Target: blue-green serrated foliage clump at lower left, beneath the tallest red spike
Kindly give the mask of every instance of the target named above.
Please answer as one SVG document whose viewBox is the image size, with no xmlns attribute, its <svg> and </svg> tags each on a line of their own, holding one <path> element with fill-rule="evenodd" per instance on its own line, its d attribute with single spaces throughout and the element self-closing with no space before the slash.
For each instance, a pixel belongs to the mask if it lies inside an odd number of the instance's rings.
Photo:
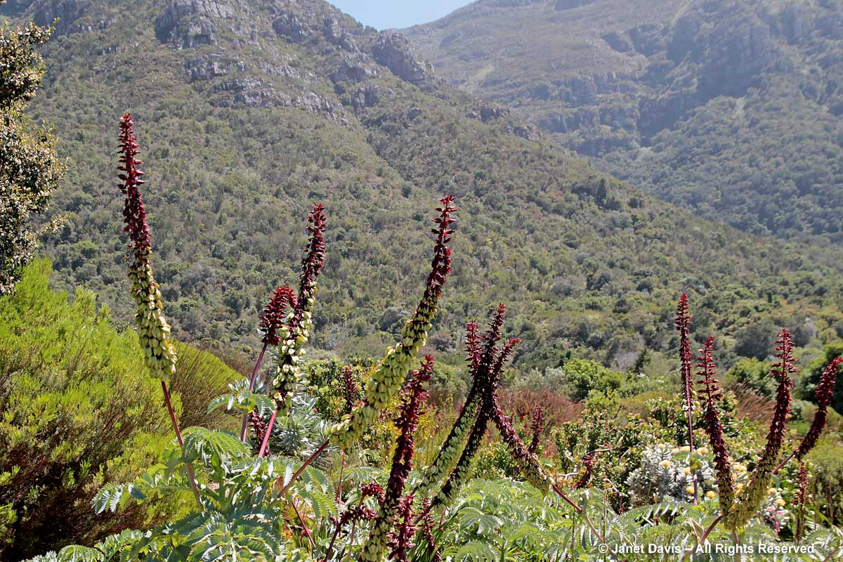
<svg viewBox="0 0 843 562">
<path fill-rule="evenodd" d="M 146 533 L 115 535 L 92 549 L 74 547 L 36 560 L 294 560 L 295 546 L 285 542 L 284 501 L 273 493 L 286 484 L 298 462 L 289 458 L 251 458 L 250 447 L 225 431 L 194 427 L 185 431 L 184 455 L 174 447 L 168 463 L 150 468 L 131 483 L 108 484 L 94 497 L 99 512 L 161 495 L 190 497 L 185 463 L 198 468 L 202 509 L 164 522 Z M 315 517 L 333 517 L 336 506 L 325 474 L 306 470 L 291 488 Z"/>
</svg>

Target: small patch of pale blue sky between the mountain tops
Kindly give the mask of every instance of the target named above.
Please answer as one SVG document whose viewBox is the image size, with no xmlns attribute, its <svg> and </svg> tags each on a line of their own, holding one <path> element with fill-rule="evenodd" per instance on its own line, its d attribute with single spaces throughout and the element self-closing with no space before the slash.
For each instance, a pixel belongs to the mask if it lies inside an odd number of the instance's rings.
<svg viewBox="0 0 843 562">
<path fill-rule="evenodd" d="M 328 0 L 376 29 L 410 27 L 439 19 L 471 0 Z"/>
</svg>

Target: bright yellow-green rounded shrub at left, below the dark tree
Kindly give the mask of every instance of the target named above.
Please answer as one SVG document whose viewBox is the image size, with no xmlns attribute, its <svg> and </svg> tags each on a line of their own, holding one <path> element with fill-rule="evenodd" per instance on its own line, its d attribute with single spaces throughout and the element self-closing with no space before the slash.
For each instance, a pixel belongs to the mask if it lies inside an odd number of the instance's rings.
<svg viewBox="0 0 843 562">
<path fill-rule="evenodd" d="M 98 307 L 91 292 L 78 289 L 72 300 L 52 292 L 50 270 L 48 261 L 35 261 L 13 295 L 0 298 L 3 559 L 91 542 L 171 511 L 157 502 L 94 517 L 94 493 L 157 462 L 172 434 L 134 332 L 115 331 L 108 308 Z M 234 374 L 186 345 L 180 352 L 193 361 L 181 364 L 174 386 L 200 398 Z M 207 403 L 175 402 L 183 420 L 212 421 Z"/>
</svg>

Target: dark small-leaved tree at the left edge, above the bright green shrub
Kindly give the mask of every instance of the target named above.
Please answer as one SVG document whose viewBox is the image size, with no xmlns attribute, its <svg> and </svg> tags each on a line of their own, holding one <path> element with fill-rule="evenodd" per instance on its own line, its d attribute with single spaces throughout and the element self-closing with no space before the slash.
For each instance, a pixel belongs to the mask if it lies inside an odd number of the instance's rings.
<svg viewBox="0 0 843 562">
<path fill-rule="evenodd" d="M 24 115 L 45 72 L 35 46 L 51 31 L 35 24 L 0 27 L 0 295 L 12 292 L 38 236 L 58 225 L 53 220 L 34 227 L 31 221 L 46 211 L 64 163 L 56 155 L 56 138 Z"/>
</svg>

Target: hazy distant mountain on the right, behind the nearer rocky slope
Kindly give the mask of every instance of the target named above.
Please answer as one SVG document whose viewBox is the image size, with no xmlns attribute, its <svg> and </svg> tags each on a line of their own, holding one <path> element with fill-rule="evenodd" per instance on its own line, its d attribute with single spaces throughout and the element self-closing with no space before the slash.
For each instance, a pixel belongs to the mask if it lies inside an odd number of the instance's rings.
<svg viewBox="0 0 843 562">
<path fill-rule="evenodd" d="M 405 35 L 449 83 L 642 190 L 843 240 L 840 0 L 480 0 Z"/>
</svg>

